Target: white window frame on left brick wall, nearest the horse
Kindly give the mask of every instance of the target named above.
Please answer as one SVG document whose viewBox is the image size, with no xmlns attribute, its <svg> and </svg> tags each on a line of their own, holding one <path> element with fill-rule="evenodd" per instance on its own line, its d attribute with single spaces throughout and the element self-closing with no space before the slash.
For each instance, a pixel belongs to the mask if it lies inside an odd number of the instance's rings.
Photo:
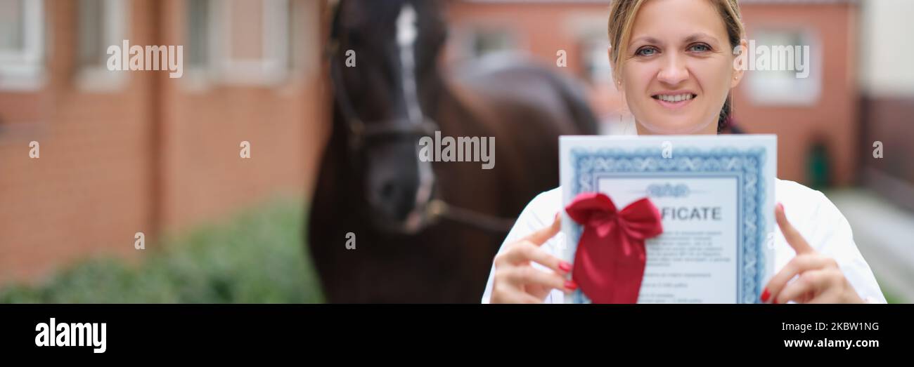
<svg viewBox="0 0 914 367">
<path fill-rule="evenodd" d="M 214 3 L 218 35 L 231 35 L 231 2 Z M 289 0 L 263 0 L 260 59 L 232 58 L 231 37 L 219 37 L 214 66 L 223 84 L 241 86 L 276 86 L 289 75 Z"/>
</svg>

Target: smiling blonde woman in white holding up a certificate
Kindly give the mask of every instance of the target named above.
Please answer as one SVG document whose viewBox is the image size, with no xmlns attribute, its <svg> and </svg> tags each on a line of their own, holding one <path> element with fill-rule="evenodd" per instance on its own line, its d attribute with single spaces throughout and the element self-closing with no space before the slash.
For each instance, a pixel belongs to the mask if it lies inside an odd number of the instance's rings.
<svg viewBox="0 0 914 367">
<path fill-rule="evenodd" d="M 610 63 L 639 135 L 716 134 L 746 47 L 737 0 L 615 0 Z M 743 48 L 745 49 L 745 48 Z M 494 258 L 484 303 L 561 303 L 577 285 L 558 254 L 561 188 L 539 194 Z M 777 180 L 775 275 L 766 303 L 885 303 L 844 215 L 825 196 Z M 785 211 L 789 210 L 790 215 Z M 549 225 L 551 223 L 551 225 Z"/>
</svg>

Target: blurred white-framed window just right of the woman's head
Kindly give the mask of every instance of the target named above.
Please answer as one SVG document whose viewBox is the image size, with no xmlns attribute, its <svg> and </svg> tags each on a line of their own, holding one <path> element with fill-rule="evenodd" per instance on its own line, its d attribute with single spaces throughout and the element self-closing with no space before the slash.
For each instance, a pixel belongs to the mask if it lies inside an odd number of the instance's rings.
<svg viewBox="0 0 914 367">
<path fill-rule="evenodd" d="M 761 29 L 754 32 L 749 43 L 749 61 L 746 83 L 749 99 L 759 105 L 808 106 L 819 100 L 822 89 L 822 50 L 812 31 Z M 753 42 L 754 41 L 754 49 Z M 766 58 L 767 67 L 758 69 L 760 59 Z M 784 63 L 791 67 L 784 68 Z M 803 64 L 808 65 L 803 65 Z M 753 64 L 757 69 L 752 69 Z M 798 68 L 805 68 L 800 72 Z M 805 78 L 801 78 L 804 74 Z"/>
</svg>

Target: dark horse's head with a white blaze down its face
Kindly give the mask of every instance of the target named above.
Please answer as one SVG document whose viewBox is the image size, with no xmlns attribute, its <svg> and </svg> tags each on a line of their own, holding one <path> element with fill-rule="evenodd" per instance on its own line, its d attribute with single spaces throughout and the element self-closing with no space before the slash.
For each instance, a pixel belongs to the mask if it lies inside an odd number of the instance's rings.
<svg viewBox="0 0 914 367">
<path fill-rule="evenodd" d="M 419 139 L 438 130 L 426 114 L 447 26 L 437 1 L 341 0 L 330 68 L 334 123 L 343 124 L 349 169 L 362 170 L 377 229 L 415 233 L 430 221 L 435 175 Z"/>
</svg>

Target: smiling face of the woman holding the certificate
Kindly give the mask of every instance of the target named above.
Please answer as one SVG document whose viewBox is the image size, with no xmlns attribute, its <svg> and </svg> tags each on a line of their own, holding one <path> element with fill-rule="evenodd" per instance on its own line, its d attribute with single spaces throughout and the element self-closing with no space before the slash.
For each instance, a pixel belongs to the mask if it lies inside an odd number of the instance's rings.
<svg viewBox="0 0 914 367">
<path fill-rule="evenodd" d="M 717 133 L 728 91 L 742 77 L 735 58 L 710 1 L 646 1 L 619 58 L 622 93 L 638 133 Z"/>
</svg>

